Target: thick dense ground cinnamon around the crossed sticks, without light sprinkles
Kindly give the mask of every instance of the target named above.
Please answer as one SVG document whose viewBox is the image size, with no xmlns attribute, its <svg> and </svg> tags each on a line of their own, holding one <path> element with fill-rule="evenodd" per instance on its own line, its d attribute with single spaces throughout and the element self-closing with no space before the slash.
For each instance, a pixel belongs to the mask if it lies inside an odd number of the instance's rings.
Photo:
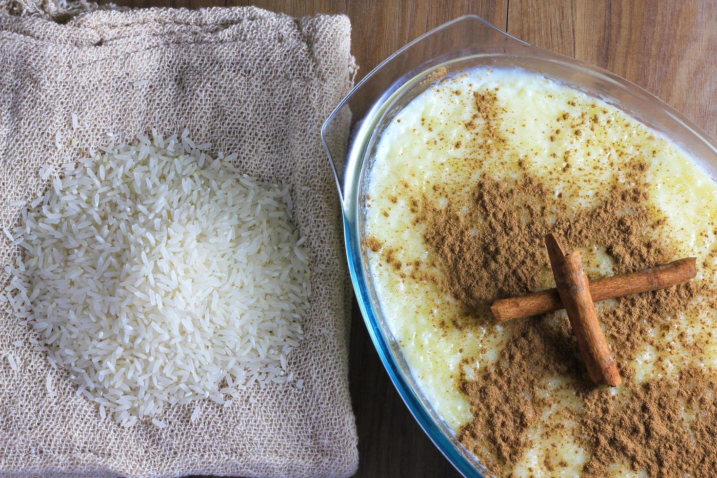
<svg viewBox="0 0 717 478">
<path fill-rule="evenodd" d="M 424 240 L 436 257 L 432 265 L 441 274 L 414 267 L 414 277 L 423 274 L 422 279 L 437 282 L 470 316 L 487 313 L 496 299 L 552 285 L 543 245 L 543 236 L 550 231 L 564 236 L 566 244 L 584 252 L 588 261 L 593 247 L 603 247 L 614 260 L 616 274 L 669 262 L 673 252 L 649 234 L 655 219 L 645 206 L 642 170 L 637 164 L 631 173 L 632 181 L 627 183 L 634 186 L 615 186 L 598 206 L 586 209 L 569 207 L 527 173 L 511 186 L 483 175 L 472 196 L 457 201 L 447 194 L 447 206 L 442 208 L 422 196 L 412 202 L 413 212 L 417 222 L 426 226 Z M 688 310 L 704 287 L 690 282 L 624 297 L 614 307 L 602 308 L 599 320 L 627 382 L 617 396 L 585 378 L 563 314 L 505 323 L 511 338 L 497 362 L 478 378 L 460 380 L 473 412 L 473 421 L 460 430 L 460 441 L 494 472 L 510 469 L 532 445 L 526 431 L 551 404 L 547 382 L 564 377 L 581 401 L 581 410 L 569 417 L 578 426 L 561 431 L 558 424 L 551 432 L 576 434 L 592 450 L 584 474 L 605 476 L 610 465 L 622 462 L 655 477 L 708 476 L 706 470 L 717 469 L 717 448 L 708 439 L 717 426 L 710 398 L 714 384 L 705 383 L 695 371 L 683 371 L 675 381 L 636 384 L 627 364 L 646 343 L 661 347 L 659 333 L 653 336 L 651 330 L 669 331 L 668 317 Z M 661 365 L 665 364 L 656 366 Z M 678 412 L 690 403 L 701 412 L 688 429 Z M 690 434 L 701 439 L 694 441 Z M 491 449 L 488 456 L 483 453 L 486 444 Z M 700 459 L 695 462 L 695 457 Z M 566 465 L 550 455 L 543 464 L 546 469 Z"/>
</svg>

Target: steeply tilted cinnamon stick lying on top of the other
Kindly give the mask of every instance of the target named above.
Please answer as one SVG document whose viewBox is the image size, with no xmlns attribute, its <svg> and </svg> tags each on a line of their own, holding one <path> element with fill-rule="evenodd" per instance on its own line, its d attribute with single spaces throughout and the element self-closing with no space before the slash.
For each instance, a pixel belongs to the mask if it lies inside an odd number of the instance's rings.
<svg viewBox="0 0 717 478">
<path fill-rule="evenodd" d="M 555 234 L 548 234 L 545 242 L 555 285 L 568 313 L 588 375 L 594 383 L 618 386 L 622 383 L 622 378 L 597 321 L 595 304 L 592 302 L 580 253 L 566 254 L 563 244 Z"/>
</svg>

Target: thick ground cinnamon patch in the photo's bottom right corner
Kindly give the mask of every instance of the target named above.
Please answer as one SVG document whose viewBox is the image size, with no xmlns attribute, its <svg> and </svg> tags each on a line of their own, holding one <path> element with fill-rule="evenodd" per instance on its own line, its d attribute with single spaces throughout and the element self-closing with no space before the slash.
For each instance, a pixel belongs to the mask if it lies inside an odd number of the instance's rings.
<svg viewBox="0 0 717 478">
<path fill-rule="evenodd" d="M 680 372 L 677 381 L 651 380 L 632 388 L 627 401 L 592 391 L 578 434 L 594 450 L 587 477 L 605 477 L 622 462 L 650 477 L 713 477 L 717 471 L 717 383 L 701 368 Z M 691 426 L 683 407 L 698 411 Z"/>
</svg>

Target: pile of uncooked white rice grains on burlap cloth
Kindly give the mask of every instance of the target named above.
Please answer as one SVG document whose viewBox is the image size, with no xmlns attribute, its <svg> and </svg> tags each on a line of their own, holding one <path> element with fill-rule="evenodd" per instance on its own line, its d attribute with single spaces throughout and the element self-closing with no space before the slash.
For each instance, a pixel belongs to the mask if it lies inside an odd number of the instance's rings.
<svg viewBox="0 0 717 478">
<path fill-rule="evenodd" d="M 123 426 L 293 381 L 310 277 L 288 188 L 210 147 L 153 132 L 44 167 L 52 186 L 4 231 L 22 257 L 0 300 Z"/>
</svg>

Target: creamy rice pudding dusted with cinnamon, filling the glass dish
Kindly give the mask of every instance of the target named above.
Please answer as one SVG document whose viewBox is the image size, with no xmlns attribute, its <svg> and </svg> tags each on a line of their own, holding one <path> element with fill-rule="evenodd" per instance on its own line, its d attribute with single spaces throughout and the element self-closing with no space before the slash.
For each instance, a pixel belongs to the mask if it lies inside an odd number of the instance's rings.
<svg viewBox="0 0 717 478">
<path fill-rule="evenodd" d="M 523 70 L 470 70 L 382 133 L 364 249 L 415 380 L 490 474 L 696 477 L 717 473 L 716 200 L 693 158 L 606 102 Z M 554 287 L 549 231 L 590 277 L 698 258 L 688 285 L 599 303 L 617 388 L 589 382 L 564 312 L 490 314 Z"/>
</svg>

